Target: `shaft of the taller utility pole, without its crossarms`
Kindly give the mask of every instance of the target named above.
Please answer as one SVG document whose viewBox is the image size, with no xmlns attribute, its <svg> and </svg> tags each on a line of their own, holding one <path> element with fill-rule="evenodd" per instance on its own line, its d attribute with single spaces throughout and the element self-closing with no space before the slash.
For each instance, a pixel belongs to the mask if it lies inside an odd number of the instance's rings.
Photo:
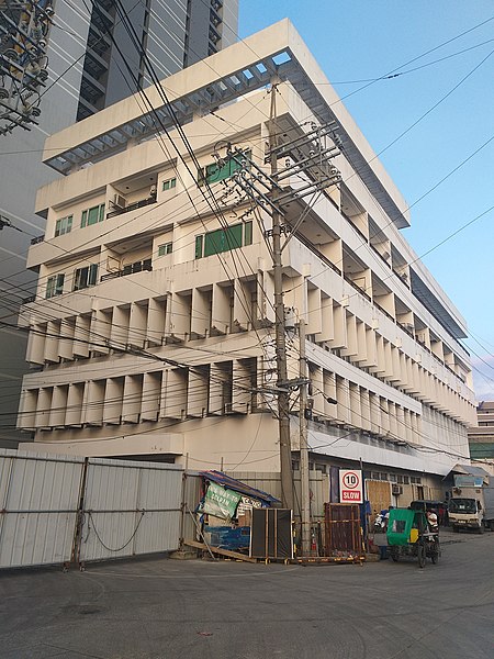
<svg viewBox="0 0 494 659">
<path fill-rule="evenodd" d="M 278 425 L 280 435 L 280 469 L 281 469 L 281 496 L 283 506 L 293 510 L 293 473 L 292 447 L 290 442 L 290 393 L 283 391 L 287 387 L 287 339 L 284 330 L 283 304 L 283 267 L 281 260 L 281 214 L 277 208 L 278 196 L 278 152 L 277 152 L 277 85 L 271 86 L 271 108 L 269 115 L 269 152 L 271 165 L 270 198 L 273 202 L 272 217 L 272 267 L 274 275 L 274 325 L 278 387 Z"/>
</svg>

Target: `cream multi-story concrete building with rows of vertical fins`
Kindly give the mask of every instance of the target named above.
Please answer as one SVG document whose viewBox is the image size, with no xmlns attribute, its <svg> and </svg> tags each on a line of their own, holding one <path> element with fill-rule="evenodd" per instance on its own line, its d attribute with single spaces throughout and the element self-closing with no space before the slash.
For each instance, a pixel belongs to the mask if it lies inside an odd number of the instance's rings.
<svg viewBox="0 0 494 659">
<path fill-rule="evenodd" d="M 396 495 L 438 491 L 475 421 L 465 323 L 401 235 L 404 199 L 291 23 L 165 86 L 170 104 L 150 88 L 153 112 L 130 98 L 46 142 L 65 176 L 36 201 L 46 234 L 29 254 L 35 370 L 20 427 L 41 450 L 279 470 L 271 217 L 233 192 L 236 171 L 266 180 L 274 133 L 279 167 L 300 163 L 278 197 L 291 201 L 284 304 L 306 323 L 311 461 L 361 459 Z M 302 198 L 318 175 L 297 145 L 328 125 L 319 167 L 341 180 Z"/>
</svg>

